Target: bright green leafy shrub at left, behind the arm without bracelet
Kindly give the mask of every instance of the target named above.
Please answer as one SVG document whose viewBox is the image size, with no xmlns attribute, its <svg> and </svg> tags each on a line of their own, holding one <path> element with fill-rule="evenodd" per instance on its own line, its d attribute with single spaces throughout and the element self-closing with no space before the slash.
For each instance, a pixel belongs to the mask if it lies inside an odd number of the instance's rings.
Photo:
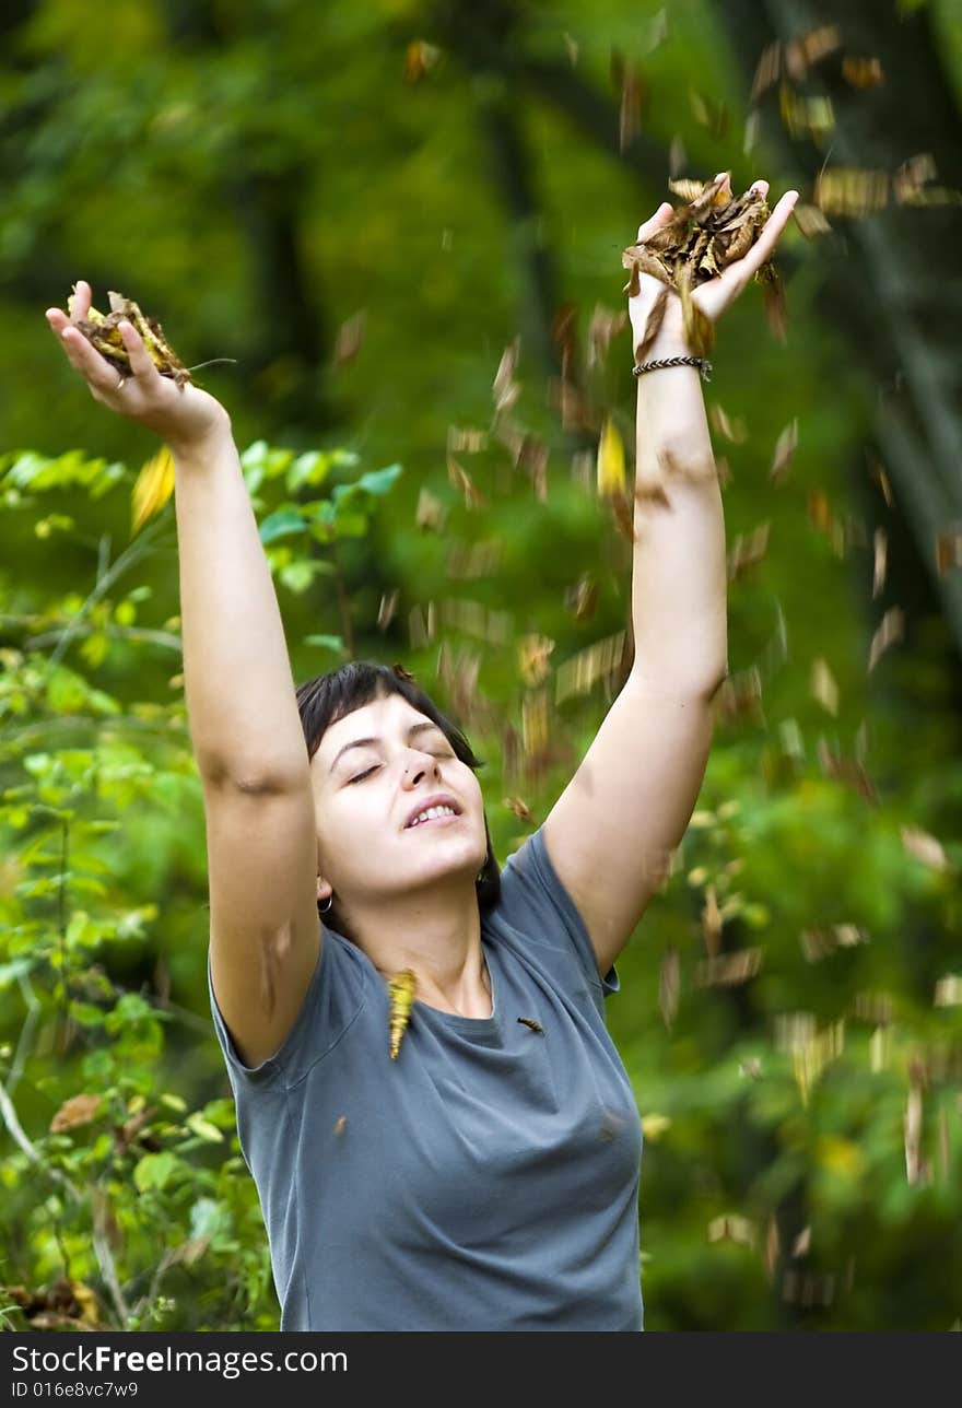
<svg viewBox="0 0 962 1408">
<path fill-rule="evenodd" d="M 324 534 L 303 534 L 296 551 L 275 553 L 272 569 L 290 593 L 332 570 L 320 553 L 355 536 L 358 520 L 366 531 L 401 472 L 366 472 L 335 484 L 328 498 L 277 505 L 285 493 L 317 493 L 358 456 L 294 455 L 258 442 L 242 462 L 265 543 L 279 536 L 270 525 L 282 514 L 313 525 L 325 510 Z M 56 539 L 46 531 L 48 504 L 80 486 L 86 498 L 76 518 L 59 527 L 96 542 L 97 520 L 114 500 L 123 510 L 132 480 L 125 466 L 106 467 L 80 452 L 7 455 L 0 511 L 49 552 Z M 151 877 L 138 836 L 161 843 L 168 867 L 176 866 L 172 831 L 186 832 L 189 848 L 200 849 L 203 838 L 183 679 L 170 680 L 176 693 L 163 704 L 137 689 L 151 655 L 179 652 L 177 620 L 149 624 L 154 593 L 137 582 L 149 548 L 165 532 L 170 539 L 172 515 L 166 505 L 113 565 L 101 539 L 97 584 L 86 598 L 45 591 L 41 573 L 3 603 L 7 638 L 27 636 L 0 650 L 0 1019 L 18 1031 L 15 1045 L 0 1048 L 14 1139 L 0 1164 L 0 1314 L 10 1329 L 276 1326 L 234 1102 L 217 1095 L 192 1108 L 210 1076 L 199 1081 L 182 1066 L 183 1031 L 172 1033 L 185 1024 L 194 1032 L 193 1014 L 163 997 L 156 969 L 139 990 L 121 980 L 142 969 L 158 942 L 166 948 L 159 901 L 170 876 Z M 110 594 L 121 576 L 127 582 Z M 314 639 L 341 649 L 334 634 Z M 54 648 L 45 653 L 39 643 Z M 79 659 L 68 665 L 70 643 Z M 190 876 L 186 897 L 199 955 L 203 879 L 200 870 Z M 200 1029 L 207 1033 L 208 1021 Z M 223 1067 L 217 1079 L 224 1087 Z M 42 1288 L 56 1283 L 69 1284 L 73 1314 L 61 1304 L 27 1315 L 17 1287 L 39 1291 L 42 1301 Z"/>
</svg>

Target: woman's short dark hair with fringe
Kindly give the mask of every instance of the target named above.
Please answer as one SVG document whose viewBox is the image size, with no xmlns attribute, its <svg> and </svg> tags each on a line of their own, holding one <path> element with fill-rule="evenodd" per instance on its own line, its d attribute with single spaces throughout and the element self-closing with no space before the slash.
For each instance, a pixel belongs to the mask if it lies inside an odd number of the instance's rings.
<svg viewBox="0 0 962 1408">
<path fill-rule="evenodd" d="M 348 660 L 337 670 L 317 674 L 313 680 L 306 680 L 297 686 L 297 710 L 300 712 L 304 739 L 307 741 L 307 758 L 314 756 L 321 746 L 324 734 L 346 714 L 370 704 L 375 698 L 386 698 L 389 694 L 400 694 L 420 714 L 427 715 L 437 724 L 444 736 L 451 743 L 455 758 L 466 763 L 473 772 L 485 766 L 485 760 L 475 756 L 475 750 L 465 734 L 441 712 L 438 705 L 417 684 L 413 674 L 403 665 L 380 665 L 377 660 Z M 494 857 L 492 834 L 487 826 L 487 812 L 485 812 L 485 838 L 487 841 L 487 855 L 475 881 L 477 893 L 477 907 L 482 914 L 492 910 L 501 894 L 501 872 Z M 320 901 L 318 901 L 320 912 Z M 337 898 L 330 911 L 324 911 L 331 921 L 331 926 L 344 934 L 342 921 L 337 915 Z M 351 935 L 345 935 L 351 938 Z"/>
</svg>

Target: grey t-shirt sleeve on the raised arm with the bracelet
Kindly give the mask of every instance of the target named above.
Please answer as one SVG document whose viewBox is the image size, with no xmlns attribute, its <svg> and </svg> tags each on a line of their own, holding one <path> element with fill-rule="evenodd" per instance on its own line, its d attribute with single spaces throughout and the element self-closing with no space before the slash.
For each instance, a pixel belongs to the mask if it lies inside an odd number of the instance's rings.
<svg viewBox="0 0 962 1408">
<path fill-rule="evenodd" d="M 561 959 L 573 955 L 597 997 L 620 991 L 614 964 L 604 977 L 599 973 L 590 935 L 551 863 L 542 826 L 506 860 L 497 908 L 507 924 L 544 950 L 555 949 Z"/>
</svg>

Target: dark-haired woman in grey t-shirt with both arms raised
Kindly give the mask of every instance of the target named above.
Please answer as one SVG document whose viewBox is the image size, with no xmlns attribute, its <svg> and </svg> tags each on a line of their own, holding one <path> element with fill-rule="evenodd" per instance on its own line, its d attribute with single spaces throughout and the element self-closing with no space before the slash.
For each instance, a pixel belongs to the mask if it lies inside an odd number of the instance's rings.
<svg viewBox="0 0 962 1408">
<path fill-rule="evenodd" d="M 794 199 L 696 291 L 708 318 Z M 665 287 L 639 283 L 635 349 Z M 89 306 L 79 283 L 73 320 Z M 361 662 L 294 689 L 227 411 L 159 376 L 132 328 L 118 377 L 65 313 L 46 317 L 94 398 L 175 456 L 210 1001 L 282 1329 L 639 1331 L 641 1125 L 604 998 L 689 822 L 727 670 L 699 372 L 638 376 L 637 472 L 662 491 L 635 503 L 634 666 L 499 873 L 479 762 L 404 670 Z M 672 291 L 645 356 L 686 355 Z"/>
</svg>

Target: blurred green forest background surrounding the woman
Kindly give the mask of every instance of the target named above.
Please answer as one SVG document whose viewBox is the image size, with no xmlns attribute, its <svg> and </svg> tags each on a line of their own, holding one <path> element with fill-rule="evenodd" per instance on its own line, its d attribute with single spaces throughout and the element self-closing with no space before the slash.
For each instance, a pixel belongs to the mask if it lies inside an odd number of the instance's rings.
<svg viewBox="0 0 962 1408">
<path fill-rule="evenodd" d="M 608 1002 L 645 1324 L 962 1328 L 962 0 L 10 0 L 0 35 L 0 1322 L 277 1326 L 207 1010 L 173 505 L 131 536 L 158 445 L 44 308 L 87 279 L 234 359 L 196 379 L 294 677 L 413 670 L 503 860 L 620 683 L 559 687 L 628 627 L 621 249 L 730 169 L 800 218 L 785 341 L 754 284 L 718 327 L 731 679 Z M 318 497 L 324 531 L 263 532 Z"/>
</svg>

